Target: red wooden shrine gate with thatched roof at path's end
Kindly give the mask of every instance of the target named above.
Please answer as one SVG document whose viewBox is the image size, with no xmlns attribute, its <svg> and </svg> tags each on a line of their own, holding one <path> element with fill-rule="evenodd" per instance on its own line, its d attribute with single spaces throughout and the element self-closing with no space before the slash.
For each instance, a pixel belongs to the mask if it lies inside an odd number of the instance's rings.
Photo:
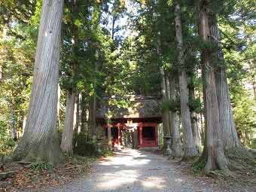
<svg viewBox="0 0 256 192">
<path fill-rule="evenodd" d="M 128 107 L 111 106 L 114 114 L 111 118 L 112 148 L 123 148 L 124 140 L 131 137 L 133 148 L 155 150 L 159 148 L 157 124 L 161 122 L 158 102 L 153 96 L 112 96 L 111 99 L 126 101 Z M 103 136 L 108 137 L 108 124 L 105 117 L 108 112 L 108 98 L 98 105 L 96 122 L 102 126 Z M 129 133 L 129 134 L 127 134 Z"/>
</svg>

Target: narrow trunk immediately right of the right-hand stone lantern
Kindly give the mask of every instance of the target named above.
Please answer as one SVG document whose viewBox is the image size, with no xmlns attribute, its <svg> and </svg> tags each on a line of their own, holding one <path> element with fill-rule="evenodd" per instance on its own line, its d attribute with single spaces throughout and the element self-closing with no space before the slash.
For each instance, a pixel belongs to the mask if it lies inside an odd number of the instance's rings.
<svg viewBox="0 0 256 192">
<path fill-rule="evenodd" d="M 174 72 L 169 73 L 169 90 L 170 90 L 170 99 L 176 99 L 175 91 L 175 75 Z M 182 148 L 181 148 L 181 137 L 178 131 L 178 112 L 170 111 L 170 123 L 172 129 L 172 157 L 179 158 L 182 157 Z"/>
</svg>

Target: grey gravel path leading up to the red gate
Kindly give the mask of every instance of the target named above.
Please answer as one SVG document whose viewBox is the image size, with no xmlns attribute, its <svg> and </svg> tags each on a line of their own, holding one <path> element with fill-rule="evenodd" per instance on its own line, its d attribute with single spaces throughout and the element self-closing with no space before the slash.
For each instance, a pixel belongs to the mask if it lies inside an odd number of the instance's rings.
<svg viewBox="0 0 256 192">
<path fill-rule="evenodd" d="M 242 191 L 220 187 L 206 179 L 181 172 L 177 163 L 167 160 L 167 157 L 131 148 L 115 152 L 114 157 L 107 157 L 92 166 L 94 169 L 90 175 L 69 184 L 36 191 Z"/>
</svg>

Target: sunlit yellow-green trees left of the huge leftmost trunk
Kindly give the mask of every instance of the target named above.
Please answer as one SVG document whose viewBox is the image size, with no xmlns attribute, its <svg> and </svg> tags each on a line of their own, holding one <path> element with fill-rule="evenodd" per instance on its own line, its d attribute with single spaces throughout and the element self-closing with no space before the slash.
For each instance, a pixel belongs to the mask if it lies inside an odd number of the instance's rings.
<svg viewBox="0 0 256 192">
<path fill-rule="evenodd" d="M 0 3 L 0 148 L 4 154 L 11 149 L 10 139 L 17 143 L 22 136 L 26 120 L 38 25 L 35 7 L 31 1 L 23 6 L 17 1 Z"/>
</svg>

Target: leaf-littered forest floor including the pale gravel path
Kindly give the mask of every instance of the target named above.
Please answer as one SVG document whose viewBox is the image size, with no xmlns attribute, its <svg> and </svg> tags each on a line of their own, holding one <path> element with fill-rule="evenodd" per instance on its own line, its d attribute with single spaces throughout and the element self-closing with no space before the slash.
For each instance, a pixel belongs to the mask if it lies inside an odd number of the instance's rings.
<svg viewBox="0 0 256 192">
<path fill-rule="evenodd" d="M 256 191 L 256 168 L 236 170 L 235 178 L 215 178 L 191 171 L 191 163 L 163 154 L 126 148 L 100 160 L 69 163 L 62 168 L 17 164 L 14 175 L 0 181 L 2 191 Z M 2 182 L 2 184 L 1 184 Z"/>
</svg>

